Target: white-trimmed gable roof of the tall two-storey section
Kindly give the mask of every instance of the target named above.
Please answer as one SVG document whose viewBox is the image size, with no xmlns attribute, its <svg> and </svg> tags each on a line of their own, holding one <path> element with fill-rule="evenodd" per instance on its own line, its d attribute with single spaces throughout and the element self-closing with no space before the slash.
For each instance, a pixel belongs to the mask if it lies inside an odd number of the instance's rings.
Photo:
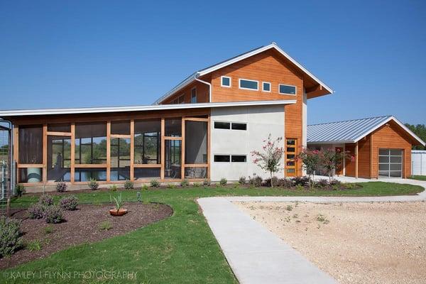
<svg viewBox="0 0 426 284">
<path fill-rule="evenodd" d="M 278 45 L 276 43 L 271 43 L 270 45 L 264 45 L 261 46 L 260 48 L 255 48 L 253 50 L 250 50 L 246 53 L 242 53 L 240 55 L 236 55 L 233 58 L 229 58 L 228 60 L 224 60 L 222 62 L 219 62 L 215 65 L 206 67 L 202 70 L 198 70 L 194 73 L 192 73 L 192 75 L 188 76 L 185 78 L 185 80 L 182 80 L 182 82 L 180 82 L 178 85 L 176 85 L 175 87 L 173 87 L 173 89 L 171 89 L 169 92 L 165 93 L 162 97 L 160 97 L 159 99 L 157 99 L 154 104 L 160 104 L 161 102 L 163 102 L 165 99 L 168 99 L 168 97 L 170 97 L 172 94 L 175 94 L 175 92 L 178 92 L 180 89 L 186 87 L 188 84 L 191 84 L 192 82 L 194 82 L 198 77 L 202 77 L 204 75 L 207 75 L 211 72 L 214 72 L 216 70 L 219 70 L 223 67 L 226 67 L 228 65 L 234 64 L 236 62 L 239 62 L 241 60 L 244 60 L 246 58 L 249 58 L 253 55 L 257 55 L 259 53 L 263 53 L 263 51 L 266 50 L 270 50 L 270 49 L 275 49 L 278 51 L 278 53 L 280 53 L 281 55 L 283 55 L 285 58 L 287 58 L 288 60 L 290 60 L 290 62 L 292 62 L 297 68 L 299 68 L 302 72 L 304 72 L 308 77 L 310 77 L 312 80 L 314 80 L 315 82 L 317 82 L 318 84 L 320 84 L 320 86 L 322 86 L 324 89 L 327 90 L 327 92 L 329 92 L 330 94 L 332 94 L 334 91 L 332 90 L 332 88 L 328 87 L 327 84 L 324 84 L 324 82 L 322 82 L 320 79 L 318 79 L 317 77 L 315 77 L 315 75 L 313 75 L 311 72 L 309 72 L 305 67 L 303 67 L 299 62 L 297 62 L 296 60 L 294 60 L 293 58 L 290 57 L 290 55 L 288 55 L 287 53 L 284 52 L 284 50 L 282 50 L 280 47 L 278 47 Z"/>
</svg>

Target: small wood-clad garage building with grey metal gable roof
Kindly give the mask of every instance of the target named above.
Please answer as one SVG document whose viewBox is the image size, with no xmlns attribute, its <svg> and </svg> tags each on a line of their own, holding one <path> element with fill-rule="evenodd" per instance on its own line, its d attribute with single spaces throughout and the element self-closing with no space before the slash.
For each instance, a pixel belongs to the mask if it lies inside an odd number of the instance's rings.
<svg viewBox="0 0 426 284">
<path fill-rule="evenodd" d="M 394 116 L 379 116 L 307 126 L 308 148 L 349 151 L 337 175 L 354 178 L 408 178 L 411 148 L 425 145 Z"/>
</svg>

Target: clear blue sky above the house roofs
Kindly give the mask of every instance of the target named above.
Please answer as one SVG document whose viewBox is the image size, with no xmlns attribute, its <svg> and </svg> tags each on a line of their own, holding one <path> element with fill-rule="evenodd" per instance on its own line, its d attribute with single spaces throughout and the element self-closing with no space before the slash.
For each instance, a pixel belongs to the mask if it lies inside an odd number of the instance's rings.
<svg viewBox="0 0 426 284">
<path fill-rule="evenodd" d="M 426 124 L 425 1 L 342 2 L 1 0 L 0 109 L 151 104 L 275 41 L 336 92 L 308 123 Z"/>
</svg>

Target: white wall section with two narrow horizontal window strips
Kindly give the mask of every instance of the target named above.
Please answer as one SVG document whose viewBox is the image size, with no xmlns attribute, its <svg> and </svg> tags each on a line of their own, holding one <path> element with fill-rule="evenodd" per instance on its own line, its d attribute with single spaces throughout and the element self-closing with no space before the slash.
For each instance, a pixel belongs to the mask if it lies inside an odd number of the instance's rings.
<svg viewBox="0 0 426 284">
<path fill-rule="evenodd" d="M 263 140 L 271 133 L 273 138 L 284 136 L 284 107 L 283 106 L 256 106 L 256 107 L 229 107 L 212 109 L 211 147 L 211 180 L 221 178 L 238 180 L 241 176 L 253 177 L 253 173 L 268 178 L 261 168 L 253 163 L 251 151 L 261 151 Z M 243 122 L 247 130 L 214 129 L 214 121 Z M 284 145 L 284 142 L 283 142 Z M 214 155 L 234 154 L 247 155 L 246 163 L 216 163 Z M 283 165 L 284 161 L 282 161 Z M 278 173 L 283 176 L 283 172 Z"/>
</svg>

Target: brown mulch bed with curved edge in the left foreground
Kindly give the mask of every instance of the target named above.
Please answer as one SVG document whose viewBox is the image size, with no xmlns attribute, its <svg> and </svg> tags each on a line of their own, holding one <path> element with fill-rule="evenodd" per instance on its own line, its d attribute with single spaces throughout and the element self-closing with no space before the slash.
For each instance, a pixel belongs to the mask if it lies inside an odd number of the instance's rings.
<svg viewBox="0 0 426 284">
<path fill-rule="evenodd" d="M 173 214 L 173 209 L 168 205 L 156 203 L 126 203 L 124 208 L 129 212 L 121 217 L 111 216 L 109 214 L 111 208 L 111 204 L 79 205 L 75 211 L 65 211 L 65 222 L 60 224 L 46 224 L 44 219 L 27 219 L 25 209 L 16 210 L 12 217 L 23 219 L 21 231 L 24 241 L 38 240 L 43 244 L 43 248 L 40 251 L 29 251 L 25 248 L 16 251 L 12 256 L 1 259 L 0 269 L 45 258 L 55 251 L 77 244 L 122 235 Z M 99 229 L 102 222 L 107 220 L 111 223 L 111 229 Z M 53 232 L 46 234 L 46 226 L 52 226 Z"/>
</svg>

